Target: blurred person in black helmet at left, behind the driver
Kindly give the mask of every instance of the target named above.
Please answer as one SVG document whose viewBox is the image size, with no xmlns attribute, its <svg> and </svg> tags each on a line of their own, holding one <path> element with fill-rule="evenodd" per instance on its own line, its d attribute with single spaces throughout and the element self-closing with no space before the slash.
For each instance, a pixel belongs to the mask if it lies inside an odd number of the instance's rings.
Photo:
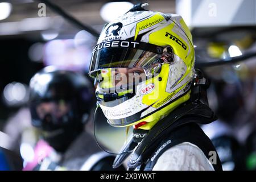
<svg viewBox="0 0 256 182">
<path fill-rule="evenodd" d="M 114 157 L 100 151 L 85 127 L 92 121 L 93 90 L 80 73 L 53 67 L 31 78 L 29 109 L 39 140 L 34 151 L 23 146 L 34 156 L 23 170 L 112 169 Z"/>
</svg>

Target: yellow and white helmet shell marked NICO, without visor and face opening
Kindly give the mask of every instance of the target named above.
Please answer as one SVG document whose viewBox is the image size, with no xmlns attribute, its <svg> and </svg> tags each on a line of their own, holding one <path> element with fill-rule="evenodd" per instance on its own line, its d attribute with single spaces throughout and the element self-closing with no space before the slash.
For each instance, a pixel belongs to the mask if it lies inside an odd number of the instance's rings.
<svg viewBox="0 0 256 182">
<path fill-rule="evenodd" d="M 179 15 L 146 10 L 129 11 L 106 24 L 101 31 L 98 44 L 122 40 L 172 48 L 174 62 L 163 63 L 158 76 L 137 86 L 134 97 L 123 99 L 111 107 L 101 105 L 102 101 L 100 103 L 110 125 L 123 127 L 146 121 L 148 124 L 140 128 L 151 129 L 156 122 L 190 97 L 189 88 L 195 75 L 192 35 Z M 110 70 L 111 68 L 104 69 L 104 72 L 109 73 Z M 108 85 L 113 86 L 113 81 L 102 81 L 102 85 L 105 85 L 106 89 Z M 100 89 L 98 86 L 96 91 Z M 134 117 L 135 115 L 139 117 Z"/>
</svg>

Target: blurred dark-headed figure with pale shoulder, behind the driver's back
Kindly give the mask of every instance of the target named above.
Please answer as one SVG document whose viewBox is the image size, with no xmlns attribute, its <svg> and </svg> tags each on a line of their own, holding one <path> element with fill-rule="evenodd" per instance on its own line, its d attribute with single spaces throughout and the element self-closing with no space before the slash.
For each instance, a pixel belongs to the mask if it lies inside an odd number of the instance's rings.
<svg viewBox="0 0 256 182">
<path fill-rule="evenodd" d="M 209 102 L 218 119 L 209 125 L 202 125 L 205 134 L 216 147 L 224 171 L 245 169 L 244 151 L 234 129 L 237 114 L 241 114 L 243 110 L 243 97 L 239 83 L 230 84 L 224 80 L 212 80 Z"/>
</svg>

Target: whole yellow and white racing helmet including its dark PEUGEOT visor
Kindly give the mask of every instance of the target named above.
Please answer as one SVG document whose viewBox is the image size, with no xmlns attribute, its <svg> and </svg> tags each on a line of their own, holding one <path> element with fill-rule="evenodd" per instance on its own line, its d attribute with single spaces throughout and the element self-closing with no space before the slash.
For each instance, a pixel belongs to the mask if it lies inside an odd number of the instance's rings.
<svg viewBox="0 0 256 182">
<path fill-rule="evenodd" d="M 189 100 L 194 63 L 192 35 L 181 16 L 129 11 L 103 28 L 89 75 L 98 81 L 98 104 L 110 125 L 150 130 Z"/>
</svg>

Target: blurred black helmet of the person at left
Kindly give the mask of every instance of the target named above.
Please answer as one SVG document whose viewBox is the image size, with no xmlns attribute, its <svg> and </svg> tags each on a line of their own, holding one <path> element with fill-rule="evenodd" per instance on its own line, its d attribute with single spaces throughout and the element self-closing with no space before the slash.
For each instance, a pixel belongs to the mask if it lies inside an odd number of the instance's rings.
<svg viewBox="0 0 256 182">
<path fill-rule="evenodd" d="M 46 67 L 31 78 L 32 126 L 56 151 L 67 150 L 84 130 L 94 105 L 93 85 L 80 73 Z"/>
</svg>

